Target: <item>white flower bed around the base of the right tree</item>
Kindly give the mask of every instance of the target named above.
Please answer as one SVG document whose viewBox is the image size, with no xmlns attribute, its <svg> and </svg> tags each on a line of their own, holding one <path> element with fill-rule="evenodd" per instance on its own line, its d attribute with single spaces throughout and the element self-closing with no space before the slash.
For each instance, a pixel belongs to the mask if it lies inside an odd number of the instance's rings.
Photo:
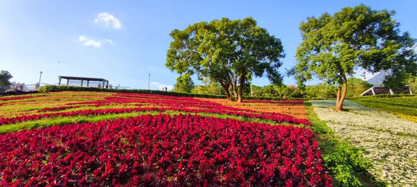
<svg viewBox="0 0 417 187">
<path fill-rule="evenodd" d="M 393 114 L 368 109 L 345 100 L 349 111 L 334 110 L 334 100 L 311 101 L 318 117 L 336 136 L 363 148 L 374 168 L 369 170 L 391 186 L 417 184 L 417 123 Z"/>
</svg>

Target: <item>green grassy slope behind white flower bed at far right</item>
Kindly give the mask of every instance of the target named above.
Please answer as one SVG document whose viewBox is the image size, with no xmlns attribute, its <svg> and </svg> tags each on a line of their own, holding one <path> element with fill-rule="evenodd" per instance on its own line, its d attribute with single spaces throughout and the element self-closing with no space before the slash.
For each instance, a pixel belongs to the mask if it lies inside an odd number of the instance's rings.
<svg viewBox="0 0 417 187">
<path fill-rule="evenodd" d="M 417 122 L 417 96 L 414 97 L 398 97 L 398 98 L 370 98 L 363 97 L 350 99 L 354 103 L 358 103 L 363 107 L 379 109 L 391 114 L 395 114 L 400 118 Z"/>
</svg>

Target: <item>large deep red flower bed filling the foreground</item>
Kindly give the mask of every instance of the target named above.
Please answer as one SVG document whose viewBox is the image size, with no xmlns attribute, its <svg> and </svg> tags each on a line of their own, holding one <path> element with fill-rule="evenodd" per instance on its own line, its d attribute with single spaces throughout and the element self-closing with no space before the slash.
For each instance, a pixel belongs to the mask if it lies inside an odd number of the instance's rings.
<svg viewBox="0 0 417 187">
<path fill-rule="evenodd" d="M 202 116 L 0 135 L 0 185 L 331 186 L 309 129 Z"/>
</svg>

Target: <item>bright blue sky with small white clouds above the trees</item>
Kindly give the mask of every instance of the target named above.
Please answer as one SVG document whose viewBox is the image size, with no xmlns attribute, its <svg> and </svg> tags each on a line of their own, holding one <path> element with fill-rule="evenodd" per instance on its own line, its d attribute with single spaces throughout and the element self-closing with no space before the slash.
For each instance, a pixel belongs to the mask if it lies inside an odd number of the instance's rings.
<svg viewBox="0 0 417 187">
<path fill-rule="evenodd" d="M 281 39 L 286 58 L 281 72 L 295 64 L 300 22 L 322 12 L 364 3 L 395 10 L 400 29 L 417 37 L 417 1 L 0 1 L 0 69 L 16 82 L 54 84 L 58 75 L 106 78 L 111 84 L 152 89 L 175 84 L 165 68 L 174 28 L 199 21 L 254 17 Z M 58 63 L 60 61 L 60 63 Z M 199 82 L 195 81 L 197 84 Z M 256 85 L 269 84 L 257 78 Z M 285 78 L 285 84 L 294 84 Z"/>
</svg>

